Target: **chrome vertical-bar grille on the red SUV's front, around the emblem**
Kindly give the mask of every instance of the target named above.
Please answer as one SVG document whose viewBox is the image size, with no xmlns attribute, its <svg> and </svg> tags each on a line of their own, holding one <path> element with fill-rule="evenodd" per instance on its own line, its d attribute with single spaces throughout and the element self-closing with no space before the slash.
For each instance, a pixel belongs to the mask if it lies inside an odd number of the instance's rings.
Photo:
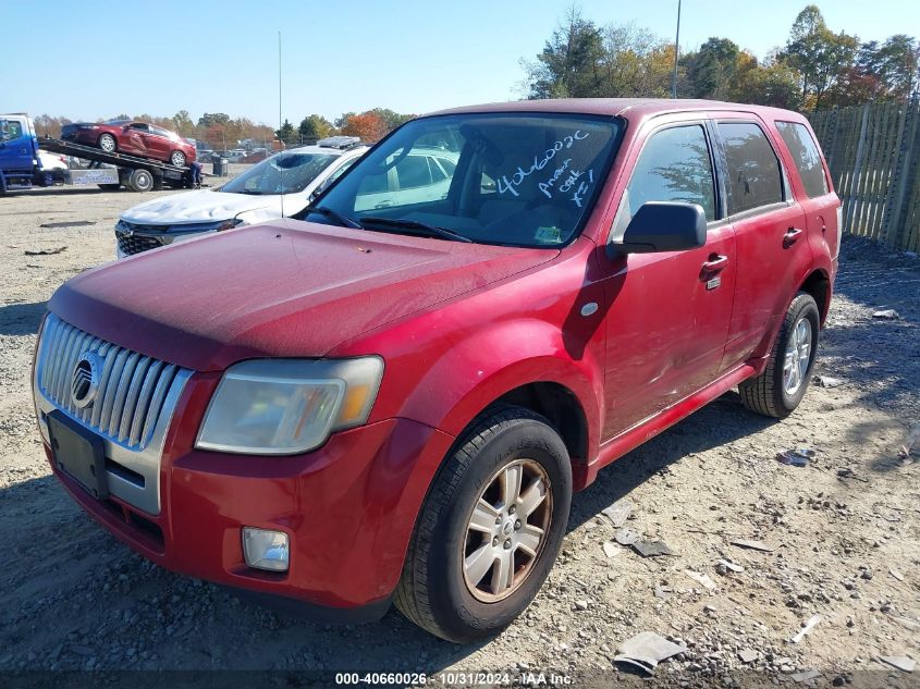
<svg viewBox="0 0 920 689">
<path fill-rule="evenodd" d="M 71 396 L 74 367 L 87 352 L 101 360 L 101 374 L 96 398 L 78 408 Z M 150 443 L 161 417 L 172 411 L 167 398 L 177 396 L 191 373 L 95 337 L 53 313 L 45 321 L 37 366 L 36 382 L 49 402 L 99 435 L 136 452 Z"/>
</svg>

